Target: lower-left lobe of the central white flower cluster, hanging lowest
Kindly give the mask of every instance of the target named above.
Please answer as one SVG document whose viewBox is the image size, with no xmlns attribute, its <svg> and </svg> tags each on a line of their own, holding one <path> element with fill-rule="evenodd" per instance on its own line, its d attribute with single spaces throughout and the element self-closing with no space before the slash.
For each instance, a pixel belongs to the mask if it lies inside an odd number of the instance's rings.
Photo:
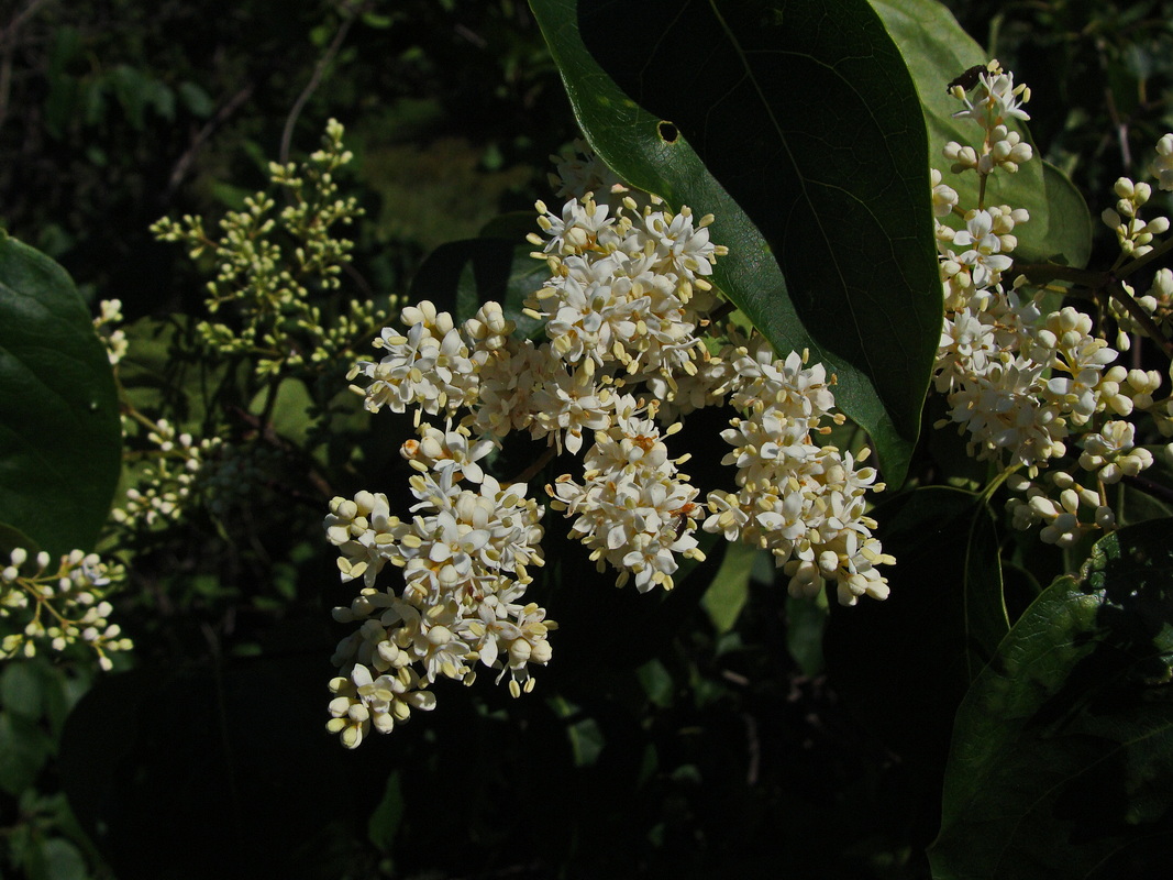
<svg viewBox="0 0 1173 880">
<path fill-rule="evenodd" d="M 423 426 L 421 434 L 405 449 L 423 465 L 411 481 L 419 500 L 411 521 L 369 492 L 335 497 L 326 517 L 343 580 L 366 584 L 334 609 L 335 621 L 360 622 L 333 657 L 346 675 L 331 682 L 328 726 L 351 749 L 372 726 L 388 733 L 412 709 L 432 709 L 427 688 L 438 677 L 472 684 L 477 662 L 501 670 L 497 681 L 508 672 L 514 696 L 531 690 L 527 666 L 550 658 L 545 636 L 557 628 L 518 601 L 533 580 L 527 568 L 542 564 L 542 509 L 526 485 L 504 487 L 481 472 L 475 460 L 486 451 L 469 454 L 467 432 Z M 462 489 L 461 480 L 480 489 Z M 401 595 L 373 585 L 387 562 L 404 569 Z"/>
</svg>

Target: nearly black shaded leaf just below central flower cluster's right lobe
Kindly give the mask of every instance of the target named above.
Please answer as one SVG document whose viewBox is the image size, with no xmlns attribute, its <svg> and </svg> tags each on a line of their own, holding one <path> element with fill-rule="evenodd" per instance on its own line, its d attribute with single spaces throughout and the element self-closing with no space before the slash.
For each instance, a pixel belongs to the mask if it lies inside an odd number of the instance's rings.
<svg viewBox="0 0 1173 880">
<path fill-rule="evenodd" d="M 920 488 L 872 515 L 896 557 L 891 595 L 855 608 L 832 603 L 827 670 L 889 749 L 943 766 L 952 713 L 1008 630 L 998 543 L 978 496 L 960 489 Z"/>
</svg>

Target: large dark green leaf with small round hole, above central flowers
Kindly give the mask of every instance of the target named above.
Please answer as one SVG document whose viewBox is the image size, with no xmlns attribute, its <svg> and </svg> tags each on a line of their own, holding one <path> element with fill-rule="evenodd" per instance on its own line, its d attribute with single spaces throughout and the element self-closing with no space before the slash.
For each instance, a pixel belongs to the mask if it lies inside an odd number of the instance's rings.
<svg viewBox="0 0 1173 880">
<path fill-rule="evenodd" d="M 916 90 L 863 0 L 531 0 L 586 140 L 635 187 L 716 216 L 721 291 L 809 348 L 900 483 L 940 336 Z M 655 34 L 655 39 L 649 35 Z"/>
</svg>

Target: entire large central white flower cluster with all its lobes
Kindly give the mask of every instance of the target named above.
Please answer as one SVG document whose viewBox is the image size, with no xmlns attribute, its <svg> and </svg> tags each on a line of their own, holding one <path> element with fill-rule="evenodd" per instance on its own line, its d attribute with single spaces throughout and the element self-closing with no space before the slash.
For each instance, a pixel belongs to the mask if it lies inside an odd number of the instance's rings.
<svg viewBox="0 0 1173 880">
<path fill-rule="evenodd" d="M 432 709 L 432 683 L 469 683 L 477 663 L 499 670 L 499 681 L 508 673 L 514 696 L 533 688 L 528 665 L 550 659 L 556 624 L 523 598 L 528 569 L 542 563 L 543 512 L 527 481 L 563 452 L 581 454 L 582 471 L 545 487 L 550 505 L 574 519 L 571 534 L 598 570 L 619 571 L 619 585 L 671 589 L 680 560 L 704 559 L 696 534 L 704 521 L 707 532 L 771 549 L 795 593 L 818 593 L 825 581 L 847 604 L 888 593 L 875 567 L 893 560 L 872 536 L 863 500 L 882 485 L 872 468 L 813 441 L 834 405 L 833 379 L 732 329 L 723 347 L 706 345 L 717 304 L 708 277 L 727 253 L 710 241 L 713 218 L 608 184 L 590 157 L 567 158 L 560 170 L 572 197 L 557 214 L 537 203 L 544 235 L 530 236 L 550 270 L 526 303 L 544 340 L 515 338 L 496 303 L 457 323 L 422 302 L 402 310 L 405 330 L 384 329 L 379 360 L 350 372 L 364 379 L 352 387 L 368 411 L 411 408 L 419 439 L 402 449 L 416 472 L 409 521 L 369 492 L 335 497 L 326 517 L 343 580 L 365 584 L 334 612 L 360 624 L 339 645 L 341 675 L 331 683 L 328 726 L 346 746 Z M 597 191 L 622 202 L 596 201 Z M 682 415 L 730 394 L 744 414 L 725 432 L 740 489 L 711 493 L 706 516 L 678 469 L 687 456 L 672 458 L 665 440 Z M 422 414 L 446 428 L 421 424 Z M 514 432 L 547 452 L 502 483 L 480 462 Z M 402 569 L 398 593 L 375 585 L 387 562 Z"/>
</svg>

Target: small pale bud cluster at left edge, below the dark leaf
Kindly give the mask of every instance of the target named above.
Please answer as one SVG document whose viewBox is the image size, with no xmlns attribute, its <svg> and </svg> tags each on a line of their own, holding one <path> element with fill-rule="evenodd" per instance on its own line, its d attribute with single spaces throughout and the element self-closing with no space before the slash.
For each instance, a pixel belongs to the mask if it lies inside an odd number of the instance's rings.
<svg viewBox="0 0 1173 880">
<path fill-rule="evenodd" d="M 106 594 L 123 578 L 122 568 L 81 550 L 62 556 L 56 569 L 50 564 L 43 550 L 30 559 L 18 547 L 0 569 L 0 621 L 20 624 L 19 631 L 0 639 L 0 657 L 34 657 L 38 642 L 47 641 L 57 652 L 83 643 L 97 654 L 102 669 L 111 669 L 107 652 L 134 647 L 108 620 L 113 607 Z"/>
</svg>

